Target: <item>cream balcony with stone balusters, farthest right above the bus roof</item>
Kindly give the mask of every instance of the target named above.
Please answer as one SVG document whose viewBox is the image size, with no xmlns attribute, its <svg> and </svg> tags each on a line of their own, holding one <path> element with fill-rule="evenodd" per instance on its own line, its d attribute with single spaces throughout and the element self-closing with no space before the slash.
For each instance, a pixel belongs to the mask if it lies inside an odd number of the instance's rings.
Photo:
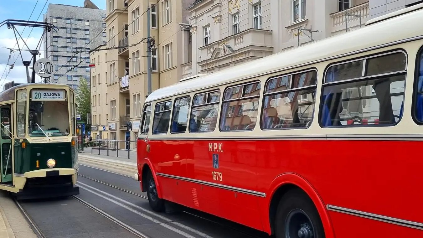
<svg viewBox="0 0 423 238">
<path fill-rule="evenodd" d="M 348 30 L 354 30 L 360 27 L 360 20 L 361 26 L 363 26 L 368 20 L 369 12 L 369 3 L 367 2 L 360 5 L 356 5 L 352 8 L 348 8 L 344 11 L 338 11 L 330 14 L 330 17 L 332 18 L 331 32 L 338 34 L 346 32 L 347 28 Z M 346 14 L 348 14 L 349 16 L 347 16 Z"/>
</svg>

